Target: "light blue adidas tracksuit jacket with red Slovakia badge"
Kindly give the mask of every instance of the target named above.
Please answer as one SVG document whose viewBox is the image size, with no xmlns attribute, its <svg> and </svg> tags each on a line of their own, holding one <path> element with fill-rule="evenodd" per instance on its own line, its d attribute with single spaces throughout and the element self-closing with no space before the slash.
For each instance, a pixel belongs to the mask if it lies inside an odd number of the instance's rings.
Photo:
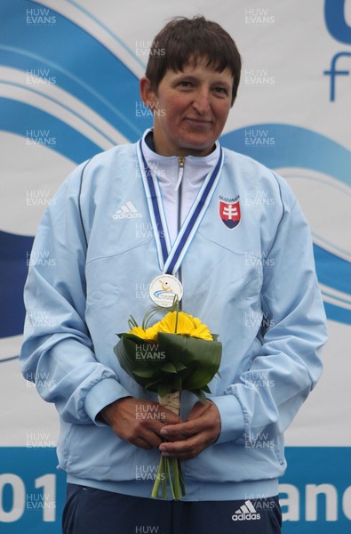
<svg viewBox="0 0 351 534">
<path fill-rule="evenodd" d="M 229 228 L 219 206 L 234 199 L 240 223 Z M 32 257 L 20 362 L 60 414 L 60 469 L 71 482 L 150 497 L 158 449 L 133 446 L 97 420 L 124 396 L 156 400 L 113 352 L 130 314 L 141 321 L 152 305 L 148 285 L 161 274 L 135 144 L 76 168 L 44 214 Z M 223 344 L 209 395 L 221 433 L 183 463 L 186 499 L 275 495 L 283 432 L 321 375 L 326 341 L 310 231 L 286 182 L 224 150 L 180 271 L 183 310 Z M 195 401 L 182 394 L 182 417 Z"/>
</svg>

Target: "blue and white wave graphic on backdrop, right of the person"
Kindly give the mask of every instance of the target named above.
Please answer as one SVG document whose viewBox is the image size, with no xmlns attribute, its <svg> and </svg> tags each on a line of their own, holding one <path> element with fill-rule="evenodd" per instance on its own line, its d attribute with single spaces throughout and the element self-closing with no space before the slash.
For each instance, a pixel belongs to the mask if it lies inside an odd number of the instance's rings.
<svg viewBox="0 0 351 534">
<path fill-rule="evenodd" d="M 255 141 L 257 139 L 260 141 Z M 269 140 L 269 144 L 264 139 Z M 351 196 L 348 172 L 351 167 L 350 150 L 306 128 L 281 124 L 248 125 L 223 135 L 221 142 L 227 148 L 277 169 L 292 189 L 295 190 L 294 182 L 299 181 L 299 203 L 309 223 L 312 203 L 314 211 L 319 210 L 321 214 L 318 228 L 315 229 L 312 223 L 311 226 L 315 267 L 327 316 L 331 320 L 351 324 L 351 248 L 346 226 Z M 309 205 L 304 203 L 304 198 L 309 199 Z M 316 206 L 320 206 L 318 210 Z M 338 219 L 344 221 L 339 243 L 332 243 L 329 239 L 328 219 L 332 218 L 332 209 Z"/>
</svg>

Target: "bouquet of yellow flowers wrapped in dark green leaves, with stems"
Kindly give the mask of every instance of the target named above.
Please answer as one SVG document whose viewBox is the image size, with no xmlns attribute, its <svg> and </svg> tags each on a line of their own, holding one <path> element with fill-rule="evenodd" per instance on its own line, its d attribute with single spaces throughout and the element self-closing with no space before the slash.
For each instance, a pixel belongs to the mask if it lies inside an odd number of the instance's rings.
<svg viewBox="0 0 351 534">
<path fill-rule="evenodd" d="M 118 335 L 114 351 L 124 371 L 145 390 L 157 392 L 160 404 L 179 415 L 181 391 L 193 392 L 202 402 L 205 393 L 211 393 L 208 384 L 218 373 L 222 346 L 199 319 L 179 312 L 177 298 L 168 310 L 152 327 L 149 321 L 164 307 L 149 310 L 141 327 L 131 316 L 131 330 Z M 179 459 L 161 455 L 151 497 L 158 497 L 162 482 L 162 498 L 167 498 L 167 481 L 173 498 L 185 495 Z"/>
</svg>

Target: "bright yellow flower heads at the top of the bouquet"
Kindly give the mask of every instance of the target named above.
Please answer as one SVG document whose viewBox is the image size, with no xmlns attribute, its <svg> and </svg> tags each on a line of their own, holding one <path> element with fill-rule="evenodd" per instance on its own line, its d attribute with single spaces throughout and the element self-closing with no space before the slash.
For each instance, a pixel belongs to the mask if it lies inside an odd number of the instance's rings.
<svg viewBox="0 0 351 534">
<path fill-rule="evenodd" d="M 181 334 L 183 336 L 198 337 L 212 341 L 210 330 L 203 325 L 201 320 L 185 312 L 169 312 L 163 320 L 158 321 L 153 327 L 144 330 L 141 327 L 132 328 L 130 334 L 138 336 L 141 339 L 157 341 L 157 334 L 166 332 L 167 334 Z"/>
</svg>

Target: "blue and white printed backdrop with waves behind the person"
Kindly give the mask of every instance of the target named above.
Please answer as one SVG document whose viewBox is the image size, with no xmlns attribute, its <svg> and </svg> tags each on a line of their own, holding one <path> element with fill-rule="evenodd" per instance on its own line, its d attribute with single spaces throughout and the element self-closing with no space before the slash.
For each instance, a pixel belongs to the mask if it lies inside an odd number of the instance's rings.
<svg viewBox="0 0 351 534">
<path fill-rule="evenodd" d="M 59 533 L 64 499 L 55 410 L 22 379 L 18 364 L 22 289 L 37 223 L 78 163 L 136 141 L 151 124 L 138 89 L 148 48 L 166 20 L 197 13 L 222 24 L 243 55 L 242 83 L 222 143 L 291 184 L 313 231 L 329 321 L 323 378 L 286 435 L 283 531 L 351 531 L 351 1 L 179 0 L 174 7 L 161 0 L 2 0 L 4 534 Z"/>
</svg>

